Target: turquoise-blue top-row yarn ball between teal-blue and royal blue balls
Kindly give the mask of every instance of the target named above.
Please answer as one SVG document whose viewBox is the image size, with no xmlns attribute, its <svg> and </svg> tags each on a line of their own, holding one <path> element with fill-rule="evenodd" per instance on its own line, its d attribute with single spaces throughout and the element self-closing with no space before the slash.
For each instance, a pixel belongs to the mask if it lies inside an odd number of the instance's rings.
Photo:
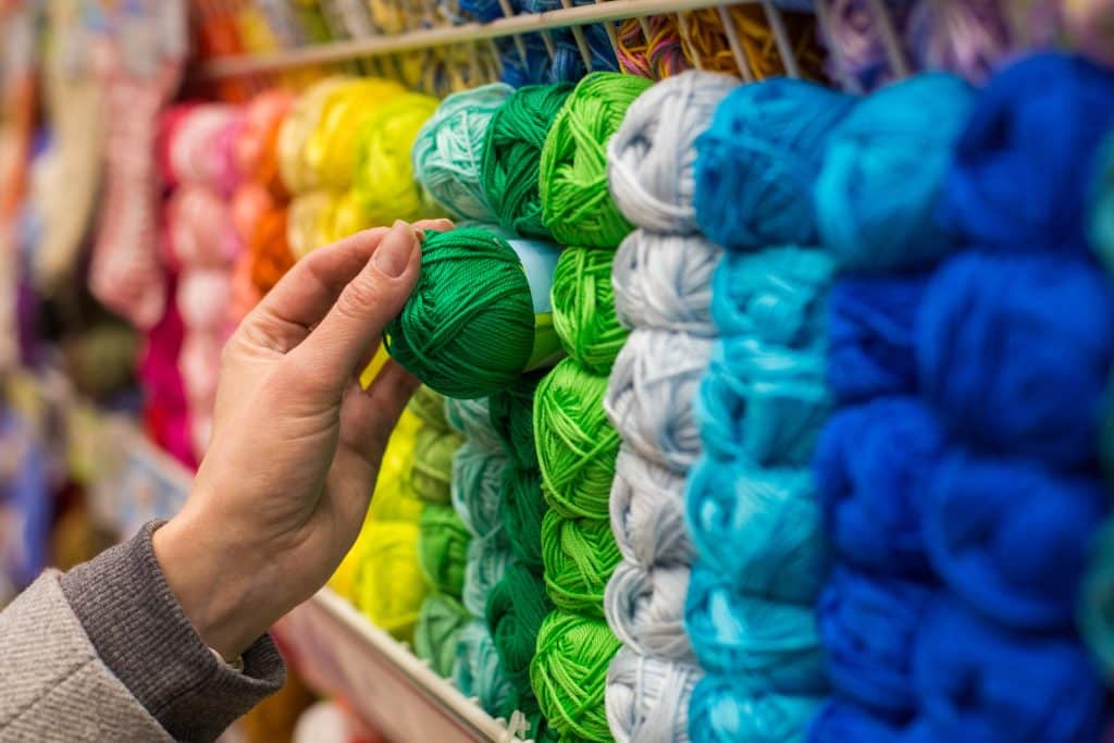
<svg viewBox="0 0 1114 743">
<path fill-rule="evenodd" d="M 936 209 L 974 97 L 955 75 L 927 72 L 863 98 L 837 125 L 814 190 L 822 243 L 837 263 L 915 268 L 958 247 Z"/>
</svg>

